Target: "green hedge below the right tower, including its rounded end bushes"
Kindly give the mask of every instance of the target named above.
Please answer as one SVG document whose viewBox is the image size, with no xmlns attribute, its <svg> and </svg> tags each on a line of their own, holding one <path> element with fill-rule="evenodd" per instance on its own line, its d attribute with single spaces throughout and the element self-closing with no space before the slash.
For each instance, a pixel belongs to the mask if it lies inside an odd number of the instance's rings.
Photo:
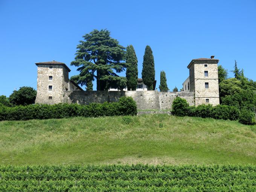
<svg viewBox="0 0 256 192">
<path fill-rule="evenodd" d="M 239 122 L 245 125 L 256 124 L 254 114 L 248 110 L 241 110 L 240 112 L 237 107 L 228 105 L 216 105 L 214 107 L 212 105 L 189 106 L 186 99 L 179 97 L 174 99 L 172 114 L 176 116 L 239 120 Z"/>
</svg>

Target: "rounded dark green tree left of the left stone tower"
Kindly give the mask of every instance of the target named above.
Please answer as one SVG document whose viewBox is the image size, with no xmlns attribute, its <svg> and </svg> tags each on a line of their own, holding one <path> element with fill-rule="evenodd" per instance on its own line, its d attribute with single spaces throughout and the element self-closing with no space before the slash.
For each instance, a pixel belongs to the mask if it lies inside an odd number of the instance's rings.
<svg viewBox="0 0 256 192">
<path fill-rule="evenodd" d="M 12 105 L 30 105 L 35 103 L 37 91 L 33 87 L 20 87 L 18 91 L 14 90 L 9 96 Z"/>
</svg>

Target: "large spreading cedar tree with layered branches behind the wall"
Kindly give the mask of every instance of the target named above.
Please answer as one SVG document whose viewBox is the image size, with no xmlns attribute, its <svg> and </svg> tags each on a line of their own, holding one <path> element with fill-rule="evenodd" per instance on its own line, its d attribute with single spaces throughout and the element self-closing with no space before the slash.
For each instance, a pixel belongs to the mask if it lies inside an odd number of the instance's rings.
<svg viewBox="0 0 256 192">
<path fill-rule="evenodd" d="M 111 38 L 106 29 L 94 29 L 83 38 L 85 41 L 80 41 L 76 47 L 78 50 L 75 61 L 71 62 L 71 65 L 78 67 L 80 74 L 72 76 L 71 79 L 90 89 L 94 79 L 97 81 L 97 90 L 108 90 L 110 87 L 120 90 L 125 88 L 126 78 L 116 74 L 125 70 L 126 63 L 121 62 L 125 56 L 125 48 L 119 45 L 116 39 Z"/>
</svg>

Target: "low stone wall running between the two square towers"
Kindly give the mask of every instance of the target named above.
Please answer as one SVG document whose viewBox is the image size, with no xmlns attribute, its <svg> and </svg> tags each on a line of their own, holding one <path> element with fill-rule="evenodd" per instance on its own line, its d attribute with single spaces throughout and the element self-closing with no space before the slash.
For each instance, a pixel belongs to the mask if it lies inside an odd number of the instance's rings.
<svg viewBox="0 0 256 192">
<path fill-rule="evenodd" d="M 136 101 L 139 110 L 171 109 L 172 102 L 179 96 L 190 105 L 195 105 L 194 92 L 158 92 L 158 91 L 63 91 L 64 103 L 90 104 L 117 102 L 122 96 L 130 96 Z"/>
</svg>

